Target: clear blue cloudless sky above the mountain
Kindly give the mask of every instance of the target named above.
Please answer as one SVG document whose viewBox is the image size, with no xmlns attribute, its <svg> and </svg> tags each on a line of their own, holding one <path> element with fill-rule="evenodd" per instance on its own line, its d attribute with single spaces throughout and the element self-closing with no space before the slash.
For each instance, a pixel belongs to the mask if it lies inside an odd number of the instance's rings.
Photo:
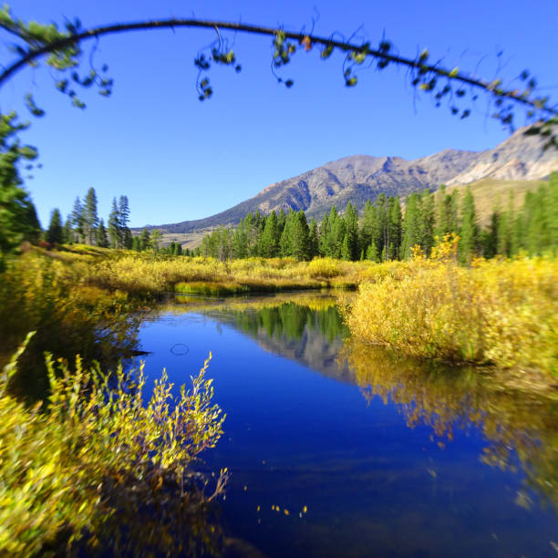
<svg viewBox="0 0 558 558">
<path fill-rule="evenodd" d="M 17 0 L 24 19 L 61 22 L 78 15 L 84 26 L 191 16 L 242 19 L 266 26 L 308 28 L 319 10 L 315 33 L 350 36 L 363 26 L 372 44 L 385 31 L 401 54 L 429 47 L 449 67 L 493 78 L 503 51 L 503 78 L 527 67 L 558 92 L 558 1 L 394 0 L 387 2 L 284 0 L 212 2 L 194 0 Z M 44 168 L 26 181 L 44 226 L 52 208 L 64 216 L 90 186 L 106 219 L 113 196 L 129 196 L 131 224 L 198 219 L 241 202 L 265 186 L 356 153 L 415 159 L 446 148 L 484 150 L 507 137 L 480 102 L 472 118 L 460 121 L 429 98 L 413 102 L 404 72 L 396 68 L 363 72 L 346 88 L 342 57 L 319 60 L 316 49 L 296 53 L 282 74 L 286 89 L 270 71 L 270 40 L 237 36 L 235 51 L 243 72 L 217 67 L 211 73 L 213 98 L 200 103 L 193 57 L 212 32 L 186 29 L 110 36 L 101 39 L 97 60 L 115 79 L 111 98 L 83 95 L 88 109 L 69 106 L 45 70 L 22 71 L 3 88 L 1 109 L 27 118 L 22 98 L 31 91 L 47 116 L 33 119 L 24 135 L 36 145 Z M 2 64 L 11 57 L 6 38 Z"/>
</svg>

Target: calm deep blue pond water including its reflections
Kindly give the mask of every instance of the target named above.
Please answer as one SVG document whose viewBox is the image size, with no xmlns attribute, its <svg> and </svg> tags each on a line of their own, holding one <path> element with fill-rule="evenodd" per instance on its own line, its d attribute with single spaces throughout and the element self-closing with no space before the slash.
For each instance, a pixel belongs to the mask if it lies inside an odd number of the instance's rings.
<svg viewBox="0 0 558 558">
<path fill-rule="evenodd" d="M 332 302 L 201 300 L 140 328 L 150 379 L 212 351 L 229 553 L 558 556 L 556 399 L 345 343 Z"/>
</svg>

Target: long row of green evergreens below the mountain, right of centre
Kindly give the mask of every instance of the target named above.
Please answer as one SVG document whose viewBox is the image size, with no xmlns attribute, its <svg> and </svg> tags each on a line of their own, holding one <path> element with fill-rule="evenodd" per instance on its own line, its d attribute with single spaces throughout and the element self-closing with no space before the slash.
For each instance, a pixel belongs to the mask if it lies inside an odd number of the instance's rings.
<svg viewBox="0 0 558 558">
<path fill-rule="evenodd" d="M 461 193 L 462 192 L 462 193 Z M 418 245 L 429 255 L 437 238 L 454 233 L 460 237 L 458 257 L 468 262 L 474 256 L 511 257 L 558 250 L 558 174 L 537 191 L 528 191 L 522 207 L 515 208 L 513 191 L 504 209 L 500 203 L 481 227 L 470 187 L 432 193 L 413 192 L 403 203 L 399 197 L 380 194 L 366 202 L 358 216 L 349 202 L 345 212 L 336 206 L 321 222 L 309 222 L 302 210 L 294 212 L 249 212 L 235 228 L 218 227 L 206 234 L 194 253 L 220 260 L 247 257 L 315 256 L 356 261 L 405 260 Z"/>
</svg>

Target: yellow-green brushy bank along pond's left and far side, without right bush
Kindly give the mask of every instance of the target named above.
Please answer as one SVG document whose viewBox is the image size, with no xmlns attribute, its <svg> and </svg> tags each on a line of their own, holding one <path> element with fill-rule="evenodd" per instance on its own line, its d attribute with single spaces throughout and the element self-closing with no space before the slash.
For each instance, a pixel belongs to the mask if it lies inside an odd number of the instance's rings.
<svg viewBox="0 0 558 558">
<path fill-rule="evenodd" d="M 137 311 L 164 294 L 269 293 L 356 288 L 376 263 L 323 259 L 220 262 L 72 245 L 57 251 L 28 246 L 0 274 L 0 366 L 36 331 L 12 389 L 32 399 L 47 392 L 44 352 L 68 362 L 79 354 L 117 366 L 137 349 Z"/>
</svg>

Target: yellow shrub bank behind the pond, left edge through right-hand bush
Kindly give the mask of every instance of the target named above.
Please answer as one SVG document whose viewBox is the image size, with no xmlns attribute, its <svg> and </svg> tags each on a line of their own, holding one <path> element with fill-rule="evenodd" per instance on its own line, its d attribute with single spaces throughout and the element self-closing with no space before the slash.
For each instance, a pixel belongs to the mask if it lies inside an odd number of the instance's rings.
<svg viewBox="0 0 558 558">
<path fill-rule="evenodd" d="M 37 331 L 30 354 L 103 360 L 133 351 L 133 310 L 163 294 L 246 294 L 338 288 L 354 336 L 408 355 L 558 371 L 558 260 L 455 263 L 455 243 L 408 262 L 173 257 L 67 247 L 31 249 L 0 284 L 0 334 L 10 353 Z M 36 350 L 35 350 L 36 349 Z"/>
</svg>

